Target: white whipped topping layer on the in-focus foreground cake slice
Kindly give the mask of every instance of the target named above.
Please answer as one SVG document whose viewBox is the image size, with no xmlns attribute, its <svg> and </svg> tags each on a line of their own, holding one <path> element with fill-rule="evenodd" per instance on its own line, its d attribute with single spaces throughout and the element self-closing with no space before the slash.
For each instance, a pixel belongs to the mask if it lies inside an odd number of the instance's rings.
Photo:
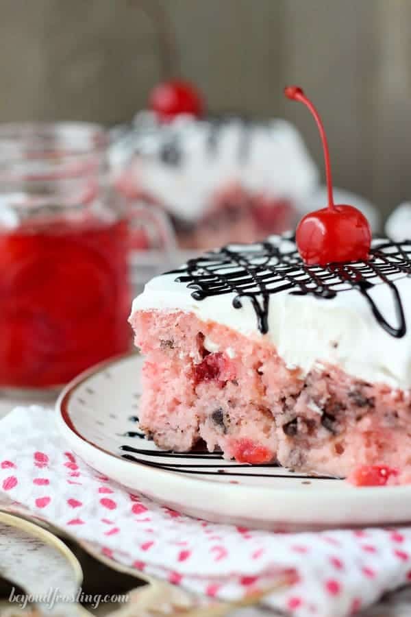
<svg viewBox="0 0 411 617">
<path fill-rule="evenodd" d="M 284 250 L 291 244 L 284 237 L 270 237 L 269 241 Z M 375 240 L 373 246 L 381 242 Z M 239 309 L 232 304 L 236 293 L 195 300 L 193 289 L 176 282 L 177 276 L 174 273 L 153 278 L 134 300 L 132 313 L 153 309 L 187 311 L 202 321 L 217 322 L 256 340 L 265 339 L 275 346 L 288 367 L 299 368 L 301 376 L 317 365 L 330 363 L 362 380 L 393 388 L 411 387 L 411 278 L 403 274 L 391 277 L 408 326 L 401 338 L 381 327 L 364 295 L 351 287 L 345 287 L 332 299 L 292 295 L 288 290 L 271 294 L 269 327 L 262 334 L 249 298 L 241 298 Z M 375 282 L 369 293 L 385 319 L 397 323 L 390 287 Z"/>
</svg>

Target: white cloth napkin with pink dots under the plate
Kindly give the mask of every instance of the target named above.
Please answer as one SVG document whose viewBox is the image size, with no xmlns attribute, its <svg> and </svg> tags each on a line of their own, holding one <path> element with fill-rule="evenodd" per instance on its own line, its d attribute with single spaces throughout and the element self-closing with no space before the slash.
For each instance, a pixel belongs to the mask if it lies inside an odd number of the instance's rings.
<svg viewBox="0 0 411 617">
<path fill-rule="evenodd" d="M 240 598 L 286 574 L 292 584 L 265 605 L 296 617 L 343 617 L 411 581 L 411 529 L 280 534 L 212 524 L 92 470 L 68 449 L 50 410 L 14 409 L 0 437 L 3 499 L 192 592 Z"/>
</svg>

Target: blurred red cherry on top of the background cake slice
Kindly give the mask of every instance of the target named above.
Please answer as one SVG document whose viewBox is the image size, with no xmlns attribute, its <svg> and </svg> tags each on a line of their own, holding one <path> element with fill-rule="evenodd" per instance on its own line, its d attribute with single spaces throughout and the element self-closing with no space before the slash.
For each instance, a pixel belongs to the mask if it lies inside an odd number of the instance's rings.
<svg viewBox="0 0 411 617">
<path fill-rule="evenodd" d="M 164 122 L 173 120 L 179 114 L 200 117 L 204 111 L 201 95 L 188 82 L 172 80 L 162 82 L 153 88 L 149 96 L 149 108 Z"/>
</svg>

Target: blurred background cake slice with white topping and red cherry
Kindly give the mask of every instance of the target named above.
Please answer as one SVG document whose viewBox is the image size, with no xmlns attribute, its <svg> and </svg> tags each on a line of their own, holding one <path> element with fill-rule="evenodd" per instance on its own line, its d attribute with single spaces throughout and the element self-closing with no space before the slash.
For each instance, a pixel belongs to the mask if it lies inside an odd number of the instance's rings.
<svg viewBox="0 0 411 617">
<path fill-rule="evenodd" d="M 160 84 L 150 110 L 114 137 L 121 191 L 169 213 L 180 247 L 210 248 L 283 232 L 301 216 L 318 173 L 287 121 L 203 115 L 188 84 Z"/>
</svg>

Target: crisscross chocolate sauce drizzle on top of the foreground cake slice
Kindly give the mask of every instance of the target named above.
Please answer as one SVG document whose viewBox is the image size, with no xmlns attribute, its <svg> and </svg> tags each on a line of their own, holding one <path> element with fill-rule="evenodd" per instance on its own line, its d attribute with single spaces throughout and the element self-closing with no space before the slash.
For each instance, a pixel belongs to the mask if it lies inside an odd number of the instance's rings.
<svg viewBox="0 0 411 617">
<path fill-rule="evenodd" d="M 256 313 L 258 329 L 269 330 L 269 302 L 273 293 L 314 295 L 328 300 L 337 293 L 356 289 L 368 302 L 379 326 L 393 337 L 406 334 L 406 318 L 401 296 L 393 279 L 411 276 L 411 241 L 373 242 L 366 262 L 330 263 L 325 267 L 305 265 L 295 245 L 295 237 L 284 235 L 275 242 L 227 245 L 221 250 L 190 259 L 169 274 L 193 289 L 192 298 L 204 300 L 214 295 L 234 293 L 232 305 L 241 309 L 248 298 Z M 395 324 L 390 324 L 372 297 L 375 285 L 384 284 L 393 297 Z"/>
</svg>

